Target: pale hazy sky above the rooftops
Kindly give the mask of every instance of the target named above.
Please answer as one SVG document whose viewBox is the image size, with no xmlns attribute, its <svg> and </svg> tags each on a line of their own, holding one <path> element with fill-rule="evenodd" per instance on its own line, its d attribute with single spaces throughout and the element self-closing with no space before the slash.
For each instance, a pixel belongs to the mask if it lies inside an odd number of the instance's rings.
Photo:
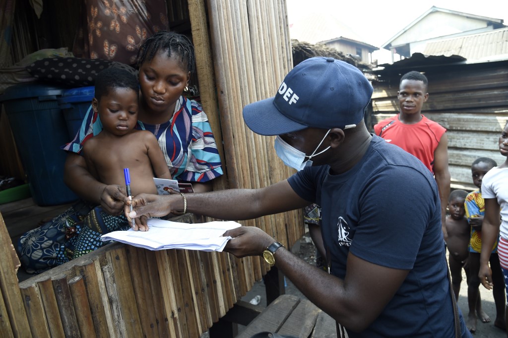
<svg viewBox="0 0 508 338">
<path fill-rule="evenodd" d="M 309 13 L 325 10 L 362 38 L 380 47 L 432 6 L 474 15 L 503 19 L 508 25 L 507 0 L 286 0 L 288 22 L 305 20 Z M 291 28 L 290 28 L 291 35 Z M 293 37 L 292 37 L 293 38 Z M 325 38 L 327 39 L 327 38 Z"/>
</svg>

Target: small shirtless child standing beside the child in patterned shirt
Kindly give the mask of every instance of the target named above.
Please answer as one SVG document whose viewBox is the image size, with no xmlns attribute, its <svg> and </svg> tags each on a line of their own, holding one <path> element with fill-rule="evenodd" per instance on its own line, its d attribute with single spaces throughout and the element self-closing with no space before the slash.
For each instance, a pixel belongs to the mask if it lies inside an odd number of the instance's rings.
<svg viewBox="0 0 508 338">
<path fill-rule="evenodd" d="M 455 298 L 459 298 L 460 284 L 462 282 L 462 268 L 467 272 L 465 266 L 469 243 L 469 224 L 464 218 L 464 201 L 467 192 L 464 190 L 454 190 L 448 200 L 448 209 L 450 215 L 446 217 L 446 228 L 448 231 L 447 247 L 450 252 L 449 264 L 452 275 L 452 286 Z M 467 274 L 466 274 L 467 275 Z"/>
</svg>

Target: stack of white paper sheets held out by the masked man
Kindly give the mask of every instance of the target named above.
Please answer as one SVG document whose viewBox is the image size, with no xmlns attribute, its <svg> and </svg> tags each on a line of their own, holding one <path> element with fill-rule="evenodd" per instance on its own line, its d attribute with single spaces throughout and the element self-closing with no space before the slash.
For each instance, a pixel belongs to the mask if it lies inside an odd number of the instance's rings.
<svg viewBox="0 0 508 338">
<path fill-rule="evenodd" d="M 149 250 L 187 249 L 223 251 L 231 237 L 222 237 L 226 230 L 240 227 L 239 223 L 208 222 L 178 223 L 150 218 L 148 231 L 113 231 L 101 236 L 103 241 L 115 240 Z"/>
</svg>

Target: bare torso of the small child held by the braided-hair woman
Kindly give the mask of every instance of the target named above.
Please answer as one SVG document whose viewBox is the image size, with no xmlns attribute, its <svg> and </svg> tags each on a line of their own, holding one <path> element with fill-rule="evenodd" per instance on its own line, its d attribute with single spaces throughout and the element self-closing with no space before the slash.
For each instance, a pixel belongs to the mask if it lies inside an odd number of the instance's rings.
<svg viewBox="0 0 508 338">
<path fill-rule="evenodd" d="M 121 137 L 99 134 L 86 142 L 85 156 L 93 163 L 101 182 L 125 186 L 123 169 L 129 168 L 133 195 L 157 194 L 144 133 L 150 132 L 133 131 Z"/>
</svg>

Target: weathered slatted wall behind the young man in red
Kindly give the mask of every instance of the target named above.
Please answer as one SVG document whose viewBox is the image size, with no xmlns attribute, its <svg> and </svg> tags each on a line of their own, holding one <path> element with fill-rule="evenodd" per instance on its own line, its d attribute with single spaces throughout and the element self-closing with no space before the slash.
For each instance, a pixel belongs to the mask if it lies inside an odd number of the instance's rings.
<svg viewBox="0 0 508 338">
<path fill-rule="evenodd" d="M 398 112 L 397 90 L 402 74 L 424 67 L 404 69 L 399 74 L 380 76 L 374 82 L 372 126 Z M 425 70 L 429 99 L 422 112 L 448 130 L 448 155 L 452 188 L 476 189 L 471 163 L 489 157 L 501 164 L 497 140 L 508 119 L 508 61 L 441 66 Z M 371 127 L 372 127 L 371 126 Z"/>
</svg>

